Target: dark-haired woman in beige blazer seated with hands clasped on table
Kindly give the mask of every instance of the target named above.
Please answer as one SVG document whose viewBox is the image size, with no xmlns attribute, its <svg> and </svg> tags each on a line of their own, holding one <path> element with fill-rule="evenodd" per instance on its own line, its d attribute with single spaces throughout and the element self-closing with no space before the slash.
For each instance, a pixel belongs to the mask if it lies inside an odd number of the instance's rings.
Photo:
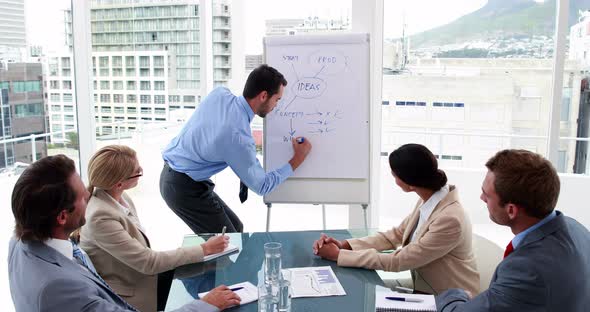
<svg viewBox="0 0 590 312">
<path fill-rule="evenodd" d="M 463 288 L 479 293 L 471 223 L 457 188 L 447 184 L 432 152 L 420 144 L 406 144 L 389 155 L 389 165 L 395 183 L 420 197 L 413 212 L 399 226 L 373 236 L 339 241 L 322 234 L 313 245 L 314 253 L 340 266 L 411 270 L 417 292 Z"/>
</svg>

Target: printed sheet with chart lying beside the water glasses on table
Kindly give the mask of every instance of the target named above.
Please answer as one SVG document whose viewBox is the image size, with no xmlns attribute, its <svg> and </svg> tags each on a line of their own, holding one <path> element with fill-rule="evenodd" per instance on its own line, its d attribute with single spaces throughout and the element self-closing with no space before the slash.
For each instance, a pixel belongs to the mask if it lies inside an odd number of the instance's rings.
<svg viewBox="0 0 590 312">
<path fill-rule="evenodd" d="M 329 266 L 289 268 L 292 298 L 345 296 L 346 292 Z"/>
</svg>

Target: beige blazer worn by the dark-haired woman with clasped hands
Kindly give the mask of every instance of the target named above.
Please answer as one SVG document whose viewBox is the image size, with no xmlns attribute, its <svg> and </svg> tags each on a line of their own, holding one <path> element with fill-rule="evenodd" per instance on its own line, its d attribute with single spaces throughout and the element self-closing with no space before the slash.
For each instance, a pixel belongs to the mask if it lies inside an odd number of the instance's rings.
<svg viewBox="0 0 590 312">
<path fill-rule="evenodd" d="M 471 222 L 459 203 L 457 188 L 450 186 L 449 194 L 436 205 L 416 239 L 410 242 L 421 205 L 422 200 L 398 227 L 374 236 L 349 239 L 352 250 L 340 251 L 338 265 L 393 272 L 411 270 L 416 290 L 439 294 L 449 288 L 462 288 L 478 294 L 479 273 L 471 246 Z M 379 252 L 390 249 L 397 250 Z"/>
</svg>

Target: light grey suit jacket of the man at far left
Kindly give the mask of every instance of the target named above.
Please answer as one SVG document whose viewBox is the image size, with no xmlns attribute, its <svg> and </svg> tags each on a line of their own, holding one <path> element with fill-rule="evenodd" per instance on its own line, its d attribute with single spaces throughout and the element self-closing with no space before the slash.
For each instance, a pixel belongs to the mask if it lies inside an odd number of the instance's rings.
<svg viewBox="0 0 590 312">
<path fill-rule="evenodd" d="M 42 242 L 10 240 L 10 293 L 16 311 L 130 311 L 92 273 Z M 177 311 L 217 311 L 193 301 Z"/>
</svg>

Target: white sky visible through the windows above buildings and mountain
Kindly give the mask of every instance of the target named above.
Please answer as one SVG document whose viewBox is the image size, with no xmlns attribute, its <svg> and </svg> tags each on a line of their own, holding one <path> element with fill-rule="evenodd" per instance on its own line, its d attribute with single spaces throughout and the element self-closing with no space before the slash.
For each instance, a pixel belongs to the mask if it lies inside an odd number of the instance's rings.
<svg viewBox="0 0 590 312">
<path fill-rule="evenodd" d="M 233 1 L 247 1 L 241 5 L 244 8 L 246 54 L 262 53 L 262 37 L 267 19 L 309 16 L 345 19 L 352 15 L 351 0 Z M 384 0 L 384 36 L 400 37 L 404 20 L 407 34 L 414 34 L 447 24 L 479 9 L 486 2 L 487 0 Z M 25 3 L 29 43 L 42 45 L 46 53 L 62 51 L 65 32 L 63 10 L 70 7 L 71 0 L 25 0 Z"/>
</svg>

